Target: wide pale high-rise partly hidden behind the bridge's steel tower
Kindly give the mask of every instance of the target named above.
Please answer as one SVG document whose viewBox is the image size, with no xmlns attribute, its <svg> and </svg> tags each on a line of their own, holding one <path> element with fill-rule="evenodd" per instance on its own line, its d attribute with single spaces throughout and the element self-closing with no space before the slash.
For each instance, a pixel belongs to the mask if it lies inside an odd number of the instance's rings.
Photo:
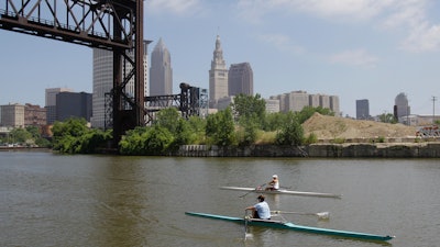
<svg viewBox="0 0 440 247">
<path fill-rule="evenodd" d="M 151 41 L 144 41 L 144 94 L 148 96 L 148 44 Z M 134 59 L 134 54 L 129 53 Z M 125 64 L 125 70 L 130 71 L 132 66 Z M 106 119 L 110 117 L 106 110 L 111 111 L 111 106 L 106 108 L 106 94 L 113 88 L 113 52 L 94 48 L 94 92 L 92 92 L 92 116 L 90 117 L 91 126 L 105 128 Z M 134 77 L 127 83 L 125 93 L 134 96 Z M 107 115 L 107 116 L 106 116 Z"/>
</svg>

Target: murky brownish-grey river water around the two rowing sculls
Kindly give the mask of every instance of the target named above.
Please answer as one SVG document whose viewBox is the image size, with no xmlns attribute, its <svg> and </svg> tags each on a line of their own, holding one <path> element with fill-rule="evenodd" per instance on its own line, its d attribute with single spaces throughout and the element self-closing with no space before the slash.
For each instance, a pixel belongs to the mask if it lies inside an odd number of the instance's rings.
<svg viewBox="0 0 440 247">
<path fill-rule="evenodd" d="M 0 246 L 440 246 L 439 159 L 179 158 L 0 153 Z M 292 190 L 267 195 L 301 225 L 395 235 L 374 243 L 188 216 L 243 216 L 273 173 Z"/>
</svg>

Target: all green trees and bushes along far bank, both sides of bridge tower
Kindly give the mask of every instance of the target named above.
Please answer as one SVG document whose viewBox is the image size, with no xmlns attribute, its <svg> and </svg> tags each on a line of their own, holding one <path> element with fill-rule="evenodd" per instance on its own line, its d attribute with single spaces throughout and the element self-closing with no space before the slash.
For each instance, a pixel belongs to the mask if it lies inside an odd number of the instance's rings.
<svg viewBox="0 0 440 247">
<path fill-rule="evenodd" d="M 316 136 L 304 136 L 301 124 L 315 112 L 333 115 L 329 109 L 311 106 L 300 112 L 267 113 L 260 94 L 239 94 L 229 108 L 206 119 L 190 116 L 187 120 L 175 108 L 168 108 L 157 112 L 151 125 L 128 131 L 119 143 L 119 151 L 123 155 L 169 155 L 180 145 L 296 146 L 314 143 Z M 111 131 L 90 128 L 84 119 L 55 122 L 52 132 L 50 145 L 65 154 L 99 153 L 112 141 Z"/>
</svg>

